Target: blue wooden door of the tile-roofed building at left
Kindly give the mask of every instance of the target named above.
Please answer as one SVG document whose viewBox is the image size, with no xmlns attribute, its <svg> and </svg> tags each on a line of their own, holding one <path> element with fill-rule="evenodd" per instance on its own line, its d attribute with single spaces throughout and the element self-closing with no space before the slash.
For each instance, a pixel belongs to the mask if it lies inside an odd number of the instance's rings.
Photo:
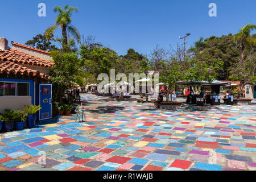
<svg viewBox="0 0 256 182">
<path fill-rule="evenodd" d="M 40 84 L 39 94 L 40 106 L 39 120 L 52 118 L 52 84 Z"/>
</svg>

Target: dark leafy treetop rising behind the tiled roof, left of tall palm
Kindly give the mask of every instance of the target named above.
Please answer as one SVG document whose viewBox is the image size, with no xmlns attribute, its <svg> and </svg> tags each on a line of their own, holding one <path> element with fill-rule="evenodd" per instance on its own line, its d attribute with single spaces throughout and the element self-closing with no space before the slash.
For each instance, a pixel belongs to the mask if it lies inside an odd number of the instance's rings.
<svg viewBox="0 0 256 182">
<path fill-rule="evenodd" d="M 58 48 L 47 39 L 45 35 L 38 34 L 32 40 L 25 43 L 27 46 L 35 47 L 44 51 L 56 51 Z"/>
</svg>

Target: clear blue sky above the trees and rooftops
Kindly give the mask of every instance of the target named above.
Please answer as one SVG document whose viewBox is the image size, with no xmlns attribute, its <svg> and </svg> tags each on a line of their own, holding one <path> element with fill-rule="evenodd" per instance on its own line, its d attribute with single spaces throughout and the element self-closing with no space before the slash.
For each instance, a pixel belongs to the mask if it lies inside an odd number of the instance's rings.
<svg viewBox="0 0 256 182">
<path fill-rule="evenodd" d="M 46 3 L 46 17 L 38 16 L 42 2 Z M 212 2 L 217 5 L 217 17 L 208 15 Z M 72 24 L 80 34 L 96 36 L 97 42 L 118 55 L 125 55 L 129 48 L 148 54 L 157 44 L 176 47 L 183 43 L 179 36 L 191 33 L 188 47 L 201 36 L 236 34 L 247 23 L 256 23 L 255 0 L 13 0 L 1 2 L 0 37 L 9 44 L 24 44 L 42 34 L 54 23 L 56 5 L 77 7 L 79 13 L 73 14 Z"/>
</svg>

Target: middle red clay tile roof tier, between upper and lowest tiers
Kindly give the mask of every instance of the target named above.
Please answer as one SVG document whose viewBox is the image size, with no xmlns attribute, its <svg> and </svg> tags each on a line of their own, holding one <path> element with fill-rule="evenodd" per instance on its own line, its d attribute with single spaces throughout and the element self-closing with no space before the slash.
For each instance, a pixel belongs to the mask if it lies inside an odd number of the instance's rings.
<svg viewBox="0 0 256 182">
<path fill-rule="evenodd" d="M 40 59 L 40 57 L 28 55 L 27 53 L 17 51 L 13 48 L 3 51 L 1 51 L 0 49 L 0 61 L 1 60 L 19 64 L 36 65 L 46 68 L 54 65 L 54 63 L 52 63 L 51 61 Z"/>
</svg>

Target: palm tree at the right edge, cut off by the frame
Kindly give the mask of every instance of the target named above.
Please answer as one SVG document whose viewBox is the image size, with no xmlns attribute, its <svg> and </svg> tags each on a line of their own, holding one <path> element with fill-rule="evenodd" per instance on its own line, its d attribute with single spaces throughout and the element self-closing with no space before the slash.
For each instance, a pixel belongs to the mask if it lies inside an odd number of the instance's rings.
<svg viewBox="0 0 256 182">
<path fill-rule="evenodd" d="M 245 65 L 244 63 L 244 51 L 245 47 L 251 47 L 253 44 L 256 45 L 256 39 L 252 38 L 250 33 L 253 30 L 256 30 L 255 24 L 247 24 L 245 27 L 240 29 L 240 32 L 234 35 L 234 40 L 239 45 L 240 55 L 241 55 L 241 65 Z"/>
</svg>

